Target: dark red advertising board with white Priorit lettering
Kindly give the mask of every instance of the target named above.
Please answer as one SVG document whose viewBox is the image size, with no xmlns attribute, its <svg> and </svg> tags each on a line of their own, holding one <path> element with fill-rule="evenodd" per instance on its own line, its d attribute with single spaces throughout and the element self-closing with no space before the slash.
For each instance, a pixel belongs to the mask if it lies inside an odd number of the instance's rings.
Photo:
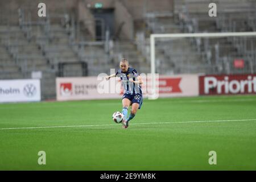
<svg viewBox="0 0 256 182">
<path fill-rule="evenodd" d="M 256 75 L 207 75 L 199 77 L 200 95 L 255 94 Z"/>
</svg>

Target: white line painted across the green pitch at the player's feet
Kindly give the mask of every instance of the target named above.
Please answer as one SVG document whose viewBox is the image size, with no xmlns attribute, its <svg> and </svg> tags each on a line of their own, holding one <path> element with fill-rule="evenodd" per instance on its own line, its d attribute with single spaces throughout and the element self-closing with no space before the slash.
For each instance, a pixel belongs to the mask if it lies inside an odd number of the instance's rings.
<svg viewBox="0 0 256 182">
<path fill-rule="evenodd" d="M 204 122 L 232 122 L 232 121 L 256 121 L 256 119 L 230 119 L 230 120 L 213 120 L 213 121 L 181 121 L 181 122 L 158 122 L 158 123 L 131 123 L 131 125 L 157 125 L 157 124 L 175 124 L 175 123 L 204 123 Z M 38 127 L 11 127 L 0 130 L 19 130 L 19 129 L 48 129 L 60 127 L 94 127 L 94 126 L 117 126 L 117 125 L 71 125 L 71 126 L 38 126 Z"/>
</svg>

